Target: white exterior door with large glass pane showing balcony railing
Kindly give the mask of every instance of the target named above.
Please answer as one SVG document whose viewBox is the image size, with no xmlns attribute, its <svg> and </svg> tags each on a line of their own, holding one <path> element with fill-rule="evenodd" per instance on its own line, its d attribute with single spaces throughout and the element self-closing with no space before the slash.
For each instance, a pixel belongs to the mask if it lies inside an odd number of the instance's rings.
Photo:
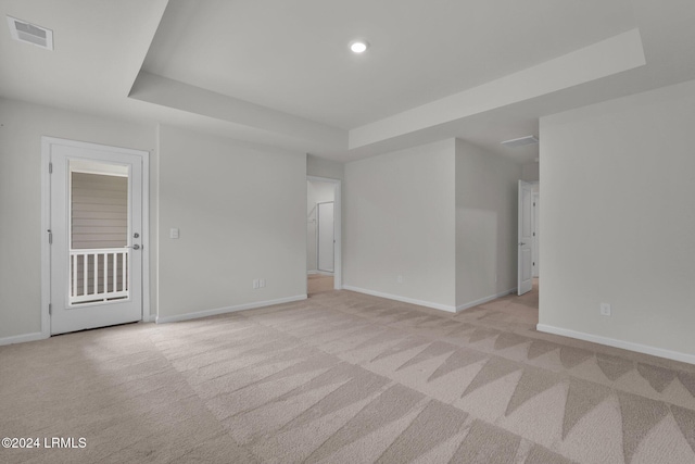
<svg viewBox="0 0 695 464">
<path fill-rule="evenodd" d="M 51 334 L 142 319 L 142 171 L 136 150 L 51 139 Z"/>
</svg>

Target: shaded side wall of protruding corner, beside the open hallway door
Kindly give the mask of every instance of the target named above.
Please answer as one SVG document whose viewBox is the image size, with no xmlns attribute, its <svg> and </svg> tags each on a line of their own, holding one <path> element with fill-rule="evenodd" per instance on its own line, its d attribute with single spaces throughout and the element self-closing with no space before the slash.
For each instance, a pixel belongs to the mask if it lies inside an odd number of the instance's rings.
<svg viewBox="0 0 695 464">
<path fill-rule="evenodd" d="M 456 140 L 456 305 L 508 293 L 517 281 L 521 166 Z"/>
</svg>

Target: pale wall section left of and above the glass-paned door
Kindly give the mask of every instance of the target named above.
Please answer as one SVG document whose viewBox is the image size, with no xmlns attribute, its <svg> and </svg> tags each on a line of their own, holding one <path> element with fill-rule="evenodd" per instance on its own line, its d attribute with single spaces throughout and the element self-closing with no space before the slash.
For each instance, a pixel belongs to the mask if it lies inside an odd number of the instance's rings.
<svg viewBox="0 0 695 464">
<path fill-rule="evenodd" d="M 0 99 L 0 339 L 41 331 L 41 136 L 151 150 L 154 126 Z"/>
</svg>

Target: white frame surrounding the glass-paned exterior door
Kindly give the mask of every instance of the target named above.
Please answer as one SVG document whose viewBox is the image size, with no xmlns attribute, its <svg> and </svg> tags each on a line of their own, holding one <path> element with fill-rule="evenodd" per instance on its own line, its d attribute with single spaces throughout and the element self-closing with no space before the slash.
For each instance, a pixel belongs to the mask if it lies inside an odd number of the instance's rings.
<svg viewBox="0 0 695 464">
<path fill-rule="evenodd" d="M 51 224 L 51 146 L 106 150 L 116 153 L 142 156 L 142 322 L 152 319 L 150 313 L 150 152 L 130 148 L 112 147 L 101 143 L 41 137 L 41 337 L 51 336 L 51 247 L 49 229 Z"/>
</svg>

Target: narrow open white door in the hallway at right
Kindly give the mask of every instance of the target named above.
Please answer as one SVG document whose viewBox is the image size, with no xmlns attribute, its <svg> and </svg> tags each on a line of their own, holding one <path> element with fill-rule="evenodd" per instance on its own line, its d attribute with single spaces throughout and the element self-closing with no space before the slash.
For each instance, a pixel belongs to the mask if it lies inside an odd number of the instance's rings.
<svg viewBox="0 0 695 464">
<path fill-rule="evenodd" d="M 519 180 L 517 293 L 533 289 L 533 187 Z"/>
</svg>

